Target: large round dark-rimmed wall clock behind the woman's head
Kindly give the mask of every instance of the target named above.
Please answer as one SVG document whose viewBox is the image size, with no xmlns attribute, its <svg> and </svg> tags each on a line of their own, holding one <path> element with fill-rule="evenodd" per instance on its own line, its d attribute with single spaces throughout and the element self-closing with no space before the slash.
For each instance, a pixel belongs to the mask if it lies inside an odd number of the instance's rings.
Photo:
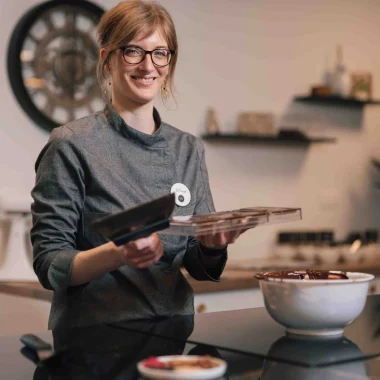
<svg viewBox="0 0 380 380">
<path fill-rule="evenodd" d="M 104 107 L 96 78 L 96 28 L 103 10 L 88 1 L 48 1 L 16 25 L 8 75 L 24 111 L 44 129 Z"/>
</svg>

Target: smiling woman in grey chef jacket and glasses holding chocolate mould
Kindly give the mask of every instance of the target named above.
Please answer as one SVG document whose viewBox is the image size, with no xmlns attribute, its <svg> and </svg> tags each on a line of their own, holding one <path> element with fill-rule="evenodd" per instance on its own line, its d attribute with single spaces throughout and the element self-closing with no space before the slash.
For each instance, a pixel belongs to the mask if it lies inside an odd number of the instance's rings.
<svg viewBox="0 0 380 380">
<path fill-rule="evenodd" d="M 218 281 L 239 232 L 157 235 L 117 247 L 91 221 L 168 194 L 181 184 L 174 215 L 214 211 L 204 150 L 161 121 L 153 103 L 173 86 L 178 44 L 157 3 L 123 2 L 98 27 L 103 112 L 56 128 L 36 162 L 32 191 L 34 270 L 54 290 L 49 328 L 192 314 L 197 280 Z M 103 83 L 101 83 L 103 85 Z"/>
</svg>

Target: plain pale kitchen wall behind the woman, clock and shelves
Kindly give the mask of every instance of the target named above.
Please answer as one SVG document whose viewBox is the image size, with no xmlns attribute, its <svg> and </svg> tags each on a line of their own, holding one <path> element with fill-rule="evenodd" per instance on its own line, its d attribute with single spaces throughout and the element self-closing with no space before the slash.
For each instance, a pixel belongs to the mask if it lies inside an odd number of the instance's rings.
<svg viewBox="0 0 380 380">
<path fill-rule="evenodd" d="M 11 93 L 6 49 L 16 20 L 35 0 L 0 3 L 0 194 L 28 198 L 33 164 L 48 135 L 33 125 Z M 97 3 L 109 8 L 118 1 Z M 180 42 L 178 108 L 159 107 L 165 121 L 193 134 L 205 131 L 206 109 L 217 111 L 223 131 L 233 131 L 240 111 L 272 111 L 278 125 L 337 144 L 309 148 L 205 144 L 218 210 L 246 206 L 302 207 L 302 222 L 249 231 L 231 258 L 262 257 L 275 232 L 292 228 L 380 227 L 380 192 L 371 189 L 369 157 L 380 157 L 380 108 L 357 110 L 300 105 L 293 95 L 318 83 L 344 46 L 350 70 L 374 74 L 380 98 L 380 2 L 377 0 L 162 0 Z M 227 58 L 231 56 L 231 58 Z M 15 195 L 16 194 L 16 195 Z"/>
</svg>

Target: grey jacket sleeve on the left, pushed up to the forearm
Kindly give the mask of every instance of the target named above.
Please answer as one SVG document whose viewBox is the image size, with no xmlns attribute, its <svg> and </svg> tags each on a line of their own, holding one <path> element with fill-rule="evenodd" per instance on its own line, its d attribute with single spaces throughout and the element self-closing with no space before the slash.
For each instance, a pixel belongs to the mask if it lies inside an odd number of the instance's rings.
<svg viewBox="0 0 380 380">
<path fill-rule="evenodd" d="M 67 127 L 53 131 L 36 162 L 32 190 L 33 267 L 47 289 L 66 291 L 79 252 L 76 235 L 84 202 L 81 153 Z"/>
</svg>

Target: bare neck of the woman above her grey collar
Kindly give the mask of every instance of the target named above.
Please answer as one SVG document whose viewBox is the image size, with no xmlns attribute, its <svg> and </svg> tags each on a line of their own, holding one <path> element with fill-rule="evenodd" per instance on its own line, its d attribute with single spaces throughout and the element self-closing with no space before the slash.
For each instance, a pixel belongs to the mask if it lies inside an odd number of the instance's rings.
<svg viewBox="0 0 380 380">
<path fill-rule="evenodd" d="M 153 102 L 147 104 L 120 104 L 112 100 L 112 107 L 122 117 L 126 124 L 133 129 L 153 135 L 156 125 L 153 119 Z"/>
</svg>

